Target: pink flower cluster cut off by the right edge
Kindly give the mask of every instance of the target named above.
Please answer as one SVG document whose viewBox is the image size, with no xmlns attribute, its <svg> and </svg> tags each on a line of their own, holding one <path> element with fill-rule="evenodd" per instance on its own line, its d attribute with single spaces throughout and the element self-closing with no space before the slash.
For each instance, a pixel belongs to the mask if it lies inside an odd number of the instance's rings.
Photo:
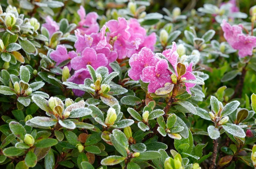
<svg viewBox="0 0 256 169">
<path fill-rule="evenodd" d="M 256 47 L 256 37 L 244 34 L 241 24 L 231 26 L 226 20 L 223 20 L 221 28 L 230 46 L 239 51 L 239 57 L 246 57 L 253 54 L 253 48 Z"/>
</svg>

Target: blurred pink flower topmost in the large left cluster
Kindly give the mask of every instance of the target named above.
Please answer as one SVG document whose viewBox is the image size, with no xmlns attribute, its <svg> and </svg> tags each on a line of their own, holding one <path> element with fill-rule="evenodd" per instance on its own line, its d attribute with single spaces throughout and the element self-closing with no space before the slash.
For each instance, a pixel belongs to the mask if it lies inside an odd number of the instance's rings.
<svg viewBox="0 0 256 169">
<path fill-rule="evenodd" d="M 99 32 L 99 24 L 97 23 L 97 18 L 99 17 L 96 12 L 90 12 L 86 15 L 83 6 L 77 11 L 80 16 L 80 22 L 78 29 L 82 34 L 91 34 Z"/>
</svg>

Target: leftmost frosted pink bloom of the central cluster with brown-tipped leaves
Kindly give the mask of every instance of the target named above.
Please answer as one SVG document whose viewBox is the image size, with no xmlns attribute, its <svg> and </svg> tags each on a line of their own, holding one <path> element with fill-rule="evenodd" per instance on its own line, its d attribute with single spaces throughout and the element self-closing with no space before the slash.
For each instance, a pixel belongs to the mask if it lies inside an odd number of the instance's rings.
<svg viewBox="0 0 256 169">
<path fill-rule="evenodd" d="M 155 66 L 158 60 L 150 49 L 144 47 L 138 54 L 131 56 L 129 60 L 131 69 L 128 71 L 128 76 L 133 80 L 140 80 L 143 69 L 147 66 Z"/>
</svg>

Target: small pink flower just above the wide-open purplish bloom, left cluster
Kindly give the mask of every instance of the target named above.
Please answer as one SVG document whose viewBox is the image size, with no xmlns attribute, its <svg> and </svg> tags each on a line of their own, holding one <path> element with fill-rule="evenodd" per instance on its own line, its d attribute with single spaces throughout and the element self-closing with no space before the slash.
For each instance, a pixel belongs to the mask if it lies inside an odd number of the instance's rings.
<svg viewBox="0 0 256 169">
<path fill-rule="evenodd" d="M 93 38 L 87 34 L 82 35 L 79 29 L 75 31 L 75 35 L 77 40 L 74 46 L 77 53 L 82 52 L 85 48 L 90 47 L 93 44 Z"/>
</svg>

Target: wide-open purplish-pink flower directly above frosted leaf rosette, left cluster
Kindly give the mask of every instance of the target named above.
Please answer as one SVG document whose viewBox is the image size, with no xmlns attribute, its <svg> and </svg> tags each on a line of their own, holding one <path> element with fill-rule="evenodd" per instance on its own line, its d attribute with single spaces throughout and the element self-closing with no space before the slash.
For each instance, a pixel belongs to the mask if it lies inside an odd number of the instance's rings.
<svg viewBox="0 0 256 169">
<path fill-rule="evenodd" d="M 99 66 L 106 66 L 108 63 L 105 54 L 96 54 L 93 48 L 85 48 L 81 56 L 77 56 L 71 60 L 71 66 L 74 70 L 84 69 L 86 65 L 91 65 L 94 69 Z"/>
</svg>

